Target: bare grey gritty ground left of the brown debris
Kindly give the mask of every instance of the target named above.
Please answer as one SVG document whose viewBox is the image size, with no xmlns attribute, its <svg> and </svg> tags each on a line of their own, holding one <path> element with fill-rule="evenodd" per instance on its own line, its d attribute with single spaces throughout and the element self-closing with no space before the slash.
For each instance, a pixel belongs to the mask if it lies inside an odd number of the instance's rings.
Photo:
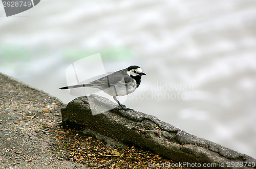
<svg viewBox="0 0 256 169">
<path fill-rule="evenodd" d="M 47 126 L 60 123 L 56 97 L 0 73 L 0 168 L 84 168 L 59 160 Z"/>
</svg>

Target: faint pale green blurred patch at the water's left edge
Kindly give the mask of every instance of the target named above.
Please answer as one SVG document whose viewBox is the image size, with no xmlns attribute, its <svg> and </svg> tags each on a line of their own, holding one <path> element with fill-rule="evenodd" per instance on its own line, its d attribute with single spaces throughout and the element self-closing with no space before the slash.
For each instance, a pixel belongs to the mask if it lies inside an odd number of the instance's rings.
<svg viewBox="0 0 256 169">
<path fill-rule="evenodd" d="M 31 59 L 30 50 L 15 45 L 0 45 L 0 62 L 28 61 Z"/>
</svg>

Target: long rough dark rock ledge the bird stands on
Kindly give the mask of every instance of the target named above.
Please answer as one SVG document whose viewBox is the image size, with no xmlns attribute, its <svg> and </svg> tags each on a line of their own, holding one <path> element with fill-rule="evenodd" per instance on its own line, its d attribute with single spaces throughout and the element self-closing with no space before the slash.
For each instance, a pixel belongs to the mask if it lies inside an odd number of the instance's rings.
<svg viewBox="0 0 256 169">
<path fill-rule="evenodd" d="M 89 100 L 95 103 L 91 107 Z M 154 116 L 115 107 L 115 103 L 97 95 L 78 97 L 61 109 L 62 121 L 75 122 L 117 142 L 136 145 L 176 162 L 216 163 L 220 168 L 232 168 L 228 167 L 231 162 L 242 162 L 244 168 L 246 163 L 256 162 L 248 155 L 189 134 Z M 103 112 L 110 108 L 113 109 Z M 97 115 L 93 116 L 91 109 Z"/>
</svg>

